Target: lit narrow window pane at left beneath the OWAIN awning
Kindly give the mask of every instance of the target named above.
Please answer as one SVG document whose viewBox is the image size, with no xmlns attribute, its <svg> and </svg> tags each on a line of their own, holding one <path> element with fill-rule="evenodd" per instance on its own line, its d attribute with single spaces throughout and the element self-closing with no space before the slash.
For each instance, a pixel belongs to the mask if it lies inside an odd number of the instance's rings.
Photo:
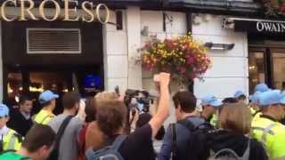
<svg viewBox="0 0 285 160">
<path fill-rule="evenodd" d="M 254 92 L 256 84 L 265 83 L 265 53 L 248 54 L 249 93 Z"/>
</svg>

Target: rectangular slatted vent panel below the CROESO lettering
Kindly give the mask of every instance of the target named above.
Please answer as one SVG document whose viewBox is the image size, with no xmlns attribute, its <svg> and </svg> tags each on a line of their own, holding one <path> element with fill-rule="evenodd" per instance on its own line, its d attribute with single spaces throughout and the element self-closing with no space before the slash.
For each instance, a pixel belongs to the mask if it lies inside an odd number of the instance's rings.
<svg viewBox="0 0 285 160">
<path fill-rule="evenodd" d="M 79 28 L 27 28 L 28 53 L 81 53 Z"/>
</svg>

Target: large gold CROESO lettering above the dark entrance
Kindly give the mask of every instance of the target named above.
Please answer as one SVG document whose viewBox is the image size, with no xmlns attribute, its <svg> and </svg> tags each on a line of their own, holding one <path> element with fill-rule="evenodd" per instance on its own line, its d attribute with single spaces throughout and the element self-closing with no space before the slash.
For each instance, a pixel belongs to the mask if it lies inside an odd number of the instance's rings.
<svg viewBox="0 0 285 160">
<path fill-rule="evenodd" d="M 107 23 L 110 10 L 105 4 L 90 1 L 61 0 L 63 7 L 56 0 L 43 0 L 35 7 L 33 0 L 5 0 L 0 7 L 1 20 L 65 20 Z M 79 4 L 80 2 L 80 4 Z M 80 8 L 80 10 L 79 10 Z"/>
</svg>

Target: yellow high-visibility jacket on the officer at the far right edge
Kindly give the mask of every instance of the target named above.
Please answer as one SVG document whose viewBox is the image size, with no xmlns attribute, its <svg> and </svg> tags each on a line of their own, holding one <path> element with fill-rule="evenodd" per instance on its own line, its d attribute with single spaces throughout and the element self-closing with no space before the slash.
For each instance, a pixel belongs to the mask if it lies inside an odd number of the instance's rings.
<svg viewBox="0 0 285 160">
<path fill-rule="evenodd" d="M 285 156 L 285 126 L 270 116 L 261 115 L 252 121 L 252 136 L 262 142 L 271 159 Z"/>
</svg>

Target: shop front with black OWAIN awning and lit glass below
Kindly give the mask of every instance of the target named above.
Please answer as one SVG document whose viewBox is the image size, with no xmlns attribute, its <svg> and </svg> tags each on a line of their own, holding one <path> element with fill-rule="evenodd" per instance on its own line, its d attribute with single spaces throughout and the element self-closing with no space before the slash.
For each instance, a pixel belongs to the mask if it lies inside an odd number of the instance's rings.
<svg viewBox="0 0 285 160">
<path fill-rule="evenodd" d="M 285 22 L 228 18 L 228 26 L 248 34 L 249 93 L 259 83 L 285 89 Z"/>
</svg>

